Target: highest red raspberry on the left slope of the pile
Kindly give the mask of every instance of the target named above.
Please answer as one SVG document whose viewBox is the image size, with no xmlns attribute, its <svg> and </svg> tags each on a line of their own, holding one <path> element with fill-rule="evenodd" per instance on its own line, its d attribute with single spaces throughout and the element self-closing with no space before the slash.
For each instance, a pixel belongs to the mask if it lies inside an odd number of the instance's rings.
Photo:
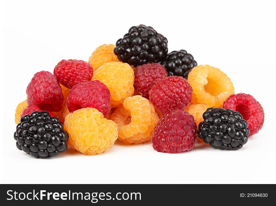
<svg viewBox="0 0 276 206">
<path fill-rule="evenodd" d="M 54 69 L 57 80 L 65 87 L 72 88 L 80 82 L 90 81 L 93 68 L 82 60 L 61 60 Z"/>
</svg>

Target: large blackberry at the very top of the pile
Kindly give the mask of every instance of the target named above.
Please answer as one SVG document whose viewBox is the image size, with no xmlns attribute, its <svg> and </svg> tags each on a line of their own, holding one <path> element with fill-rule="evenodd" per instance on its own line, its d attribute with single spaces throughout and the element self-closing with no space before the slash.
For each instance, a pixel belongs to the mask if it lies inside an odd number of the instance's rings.
<svg viewBox="0 0 276 206">
<path fill-rule="evenodd" d="M 162 61 L 168 52 L 168 40 L 152 27 L 140 24 L 129 29 L 116 42 L 115 55 L 120 61 L 133 66 Z"/>
</svg>

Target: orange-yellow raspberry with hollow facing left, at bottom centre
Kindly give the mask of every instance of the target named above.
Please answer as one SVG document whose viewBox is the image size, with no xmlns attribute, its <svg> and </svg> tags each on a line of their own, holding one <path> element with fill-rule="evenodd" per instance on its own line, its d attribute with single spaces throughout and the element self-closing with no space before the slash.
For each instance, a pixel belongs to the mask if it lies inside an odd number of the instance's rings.
<svg viewBox="0 0 276 206">
<path fill-rule="evenodd" d="M 126 144 L 138 144 L 151 140 L 152 132 L 159 118 L 153 104 L 136 95 L 126 98 L 111 115 L 119 128 L 118 139 Z"/>
</svg>

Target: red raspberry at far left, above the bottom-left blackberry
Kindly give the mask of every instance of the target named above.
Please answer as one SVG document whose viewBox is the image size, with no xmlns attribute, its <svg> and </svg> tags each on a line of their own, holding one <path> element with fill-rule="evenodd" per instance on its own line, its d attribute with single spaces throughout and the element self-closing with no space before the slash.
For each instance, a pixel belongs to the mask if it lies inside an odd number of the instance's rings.
<svg viewBox="0 0 276 206">
<path fill-rule="evenodd" d="M 36 105 L 45 111 L 58 112 L 62 108 L 62 89 L 56 76 L 49 71 L 40 71 L 34 74 L 26 93 L 28 105 Z"/>
</svg>

